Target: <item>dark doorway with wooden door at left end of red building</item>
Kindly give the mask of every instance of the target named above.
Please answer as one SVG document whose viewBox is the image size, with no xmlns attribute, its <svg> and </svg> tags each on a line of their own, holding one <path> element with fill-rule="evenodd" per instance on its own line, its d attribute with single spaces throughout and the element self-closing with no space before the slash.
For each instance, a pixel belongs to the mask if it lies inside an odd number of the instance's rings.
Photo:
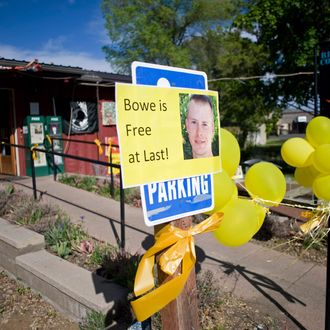
<svg viewBox="0 0 330 330">
<path fill-rule="evenodd" d="M 0 89 L 0 139 L 15 143 L 12 91 Z M 0 144 L 0 173 L 16 175 L 15 148 Z"/>
</svg>

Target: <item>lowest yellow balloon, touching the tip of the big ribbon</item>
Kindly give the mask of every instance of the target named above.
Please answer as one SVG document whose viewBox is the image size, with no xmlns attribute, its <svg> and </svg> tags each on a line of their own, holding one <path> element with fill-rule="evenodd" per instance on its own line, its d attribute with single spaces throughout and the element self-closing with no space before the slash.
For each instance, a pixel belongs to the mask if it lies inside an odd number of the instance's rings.
<svg viewBox="0 0 330 330">
<path fill-rule="evenodd" d="M 258 213 L 250 200 L 235 199 L 222 210 L 224 217 L 215 238 L 226 246 L 240 246 L 248 242 L 256 232 Z"/>
</svg>

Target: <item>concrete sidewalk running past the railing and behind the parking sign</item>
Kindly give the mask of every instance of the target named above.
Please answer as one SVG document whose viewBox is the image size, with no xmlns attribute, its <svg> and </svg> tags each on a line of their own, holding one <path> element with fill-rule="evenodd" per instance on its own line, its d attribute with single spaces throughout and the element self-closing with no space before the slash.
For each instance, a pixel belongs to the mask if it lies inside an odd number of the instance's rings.
<svg viewBox="0 0 330 330">
<path fill-rule="evenodd" d="M 32 194 L 31 178 L 12 178 Z M 7 183 L 0 176 L 0 185 Z M 37 178 L 38 196 L 59 205 L 73 222 L 83 223 L 90 235 L 115 244 L 120 239 L 118 202 L 79 190 L 52 177 Z M 153 243 L 153 228 L 143 221 L 142 210 L 126 205 L 126 249 L 143 253 Z M 326 268 L 247 243 L 227 248 L 211 233 L 196 237 L 196 271 L 216 273 L 222 289 L 243 298 L 255 309 L 286 320 L 284 329 L 324 329 Z M 239 329 L 238 329 L 239 330 Z"/>
</svg>

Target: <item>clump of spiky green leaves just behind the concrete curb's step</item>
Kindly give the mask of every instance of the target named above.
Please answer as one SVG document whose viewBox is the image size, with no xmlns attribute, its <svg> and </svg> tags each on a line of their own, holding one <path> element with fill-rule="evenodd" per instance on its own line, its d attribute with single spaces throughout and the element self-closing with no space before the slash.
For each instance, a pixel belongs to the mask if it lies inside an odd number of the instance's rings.
<svg viewBox="0 0 330 330">
<path fill-rule="evenodd" d="M 45 232 L 46 243 L 60 257 L 66 258 L 72 249 L 87 238 L 87 233 L 78 225 L 71 224 L 68 218 L 59 218 Z"/>
</svg>

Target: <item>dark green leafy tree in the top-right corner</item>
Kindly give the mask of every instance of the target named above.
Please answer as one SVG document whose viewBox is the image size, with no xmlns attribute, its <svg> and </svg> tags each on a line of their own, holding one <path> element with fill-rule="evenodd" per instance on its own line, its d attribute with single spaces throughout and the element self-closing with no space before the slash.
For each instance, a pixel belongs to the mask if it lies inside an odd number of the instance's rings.
<svg viewBox="0 0 330 330">
<path fill-rule="evenodd" d="M 235 26 L 269 53 L 265 70 L 313 72 L 314 49 L 330 36 L 328 0 L 243 0 L 242 6 Z M 272 86 L 284 102 L 307 104 L 314 97 L 312 75 L 276 79 Z"/>
</svg>

